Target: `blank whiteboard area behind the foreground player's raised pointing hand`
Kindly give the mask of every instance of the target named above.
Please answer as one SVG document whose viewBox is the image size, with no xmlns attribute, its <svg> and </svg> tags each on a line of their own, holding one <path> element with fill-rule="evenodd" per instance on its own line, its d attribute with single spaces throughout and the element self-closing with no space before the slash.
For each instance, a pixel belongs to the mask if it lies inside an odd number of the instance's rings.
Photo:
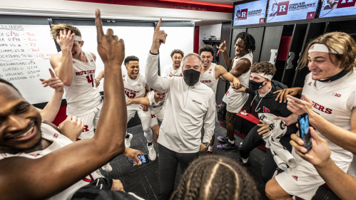
<svg viewBox="0 0 356 200">
<path fill-rule="evenodd" d="M 104 69 L 103 61 L 98 55 L 96 42 L 96 26 L 76 26 L 81 31 L 81 38 L 84 41 L 82 50 L 90 51 L 96 55 L 96 75 Z M 113 29 L 113 34 L 122 38 L 125 42 L 125 58 L 127 56 L 137 56 L 140 59 L 140 73 L 145 75 L 145 66 L 148 53 L 150 53 L 153 31 L 152 27 L 142 26 L 103 26 L 103 31 L 106 33 L 108 28 Z M 123 63 L 123 70 L 126 67 Z M 99 91 L 103 91 L 103 79 L 99 85 Z"/>
</svg>

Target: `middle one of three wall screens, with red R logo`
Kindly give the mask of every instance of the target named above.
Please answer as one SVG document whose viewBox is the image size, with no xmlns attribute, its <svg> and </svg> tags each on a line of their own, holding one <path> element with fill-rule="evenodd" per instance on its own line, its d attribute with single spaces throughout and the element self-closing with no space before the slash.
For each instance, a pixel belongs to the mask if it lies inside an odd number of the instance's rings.
<svg viewBox="0 0 356 200">
<path fill-rule="evenodd" d="M 270 0 L 267 23 L 314 19 L 319 0 Z"/>
</svg>

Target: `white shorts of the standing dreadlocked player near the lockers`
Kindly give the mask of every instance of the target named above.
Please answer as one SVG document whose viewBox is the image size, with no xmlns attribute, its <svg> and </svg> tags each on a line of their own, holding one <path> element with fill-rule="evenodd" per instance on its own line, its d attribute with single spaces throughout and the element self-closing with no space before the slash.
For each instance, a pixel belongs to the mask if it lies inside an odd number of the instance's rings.
<svg viewBox="0 0 356 200">
<path fill-rule="evenodd" d="M 239 113 L 247 100 L 248 93 L 236 93 L 231 87 L 223 97 L 223 102 L 226 103 L 226 110 L 232 113 Z"/>
</svg>

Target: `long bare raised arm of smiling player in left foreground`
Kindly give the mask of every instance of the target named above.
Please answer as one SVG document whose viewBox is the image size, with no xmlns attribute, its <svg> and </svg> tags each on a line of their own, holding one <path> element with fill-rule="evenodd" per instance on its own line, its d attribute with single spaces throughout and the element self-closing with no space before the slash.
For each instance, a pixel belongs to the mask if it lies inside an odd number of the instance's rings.
<svg viewBox="0 0 356 200">
<path fill-rule="evenodd" d="M 1 199 L 47 199 L 125 151 L 127 112 L 123 80 L 118 78 L 121 77 L 125 47 L 122 39 L 118 41 L 118 37 L 113 36 L 111 29 L 103 34 L 98 10 L 96 27 L 98 53 L 105 65 L 106 94 L 94 137 L 73 142 L 39 159 L 11 157 L 0 160 Z"/>
</svg>

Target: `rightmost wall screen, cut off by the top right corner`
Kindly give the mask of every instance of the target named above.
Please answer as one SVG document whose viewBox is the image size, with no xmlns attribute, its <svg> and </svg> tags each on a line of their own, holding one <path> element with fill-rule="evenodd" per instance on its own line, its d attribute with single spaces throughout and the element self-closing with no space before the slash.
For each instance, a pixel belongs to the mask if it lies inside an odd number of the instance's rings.
<svg viewBox="0 0 356 200">
<path fill-rule="evenodd" d="M 355 0 L 324 0 L 319 18 L 356 15 Z"/>
</svg>

